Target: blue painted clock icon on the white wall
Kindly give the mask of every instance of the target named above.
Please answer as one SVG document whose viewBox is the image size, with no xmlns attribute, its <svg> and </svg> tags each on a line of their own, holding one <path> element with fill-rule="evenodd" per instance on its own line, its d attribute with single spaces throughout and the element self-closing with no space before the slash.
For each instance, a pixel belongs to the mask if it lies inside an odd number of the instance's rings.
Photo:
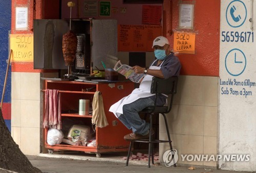
<svg viewBox="0 0 256 173">
<path fill-rule="evenodd" d="M 225 58 L 225 68 L 232 76 L 241 75 L 246 68 L 246 57 L 239 49 L 230 50 Z"/>
</svg>

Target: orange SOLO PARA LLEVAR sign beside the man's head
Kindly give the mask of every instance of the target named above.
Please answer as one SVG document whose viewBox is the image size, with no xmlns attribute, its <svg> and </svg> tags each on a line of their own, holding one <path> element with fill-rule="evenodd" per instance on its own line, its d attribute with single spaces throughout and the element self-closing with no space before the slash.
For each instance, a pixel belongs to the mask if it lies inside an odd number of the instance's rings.
<svg viewBox="0 0 256 173">
<path fill-rule="evenodd" d="M 174 52 L 195 54 L 195 33 L 175 32 Z"/>
</svg>

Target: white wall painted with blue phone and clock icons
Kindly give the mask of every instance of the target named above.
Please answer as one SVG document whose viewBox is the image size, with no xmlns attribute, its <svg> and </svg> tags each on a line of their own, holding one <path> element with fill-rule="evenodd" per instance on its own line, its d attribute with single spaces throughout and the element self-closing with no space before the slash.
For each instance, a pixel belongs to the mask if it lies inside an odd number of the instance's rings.
<svg viewBox="0 0 256 173">
<path fill-rule="evenodd" d="M 221 0 L 218 154 L 250 155 L 247 162 L 219 160 L 226 170 L 256 170 L 256 32 L 249 21 L 253 7 L 256 29 L 256 1 L 251 2 Z"/>
</svg>

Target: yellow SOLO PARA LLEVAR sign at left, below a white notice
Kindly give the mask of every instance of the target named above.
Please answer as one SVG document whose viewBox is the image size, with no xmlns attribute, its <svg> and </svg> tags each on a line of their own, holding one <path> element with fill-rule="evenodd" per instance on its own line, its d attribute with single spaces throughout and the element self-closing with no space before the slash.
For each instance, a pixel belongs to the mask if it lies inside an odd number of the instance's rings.
<svg viewBox="0 0 256 173">
<path fill-rule="evenodd" d="M 11 61 L 33 62 L 33 34 L 11 34 L 10 49 L 13 51 Z"/>
</svg>

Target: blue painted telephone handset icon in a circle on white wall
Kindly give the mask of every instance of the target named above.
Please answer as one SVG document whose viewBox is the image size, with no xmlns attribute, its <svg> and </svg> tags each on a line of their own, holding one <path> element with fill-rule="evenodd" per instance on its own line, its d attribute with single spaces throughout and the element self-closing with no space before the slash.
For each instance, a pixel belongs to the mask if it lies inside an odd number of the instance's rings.
<svg viewBox="0 0 256 173">
<path fill-rule="evenodd" d="M 247 9 L 245 4 L 240 0 L 234 0 L 227 6 L 226 20 L 230 27 L 241 27 L 247 17 Z"/>
</svg>

